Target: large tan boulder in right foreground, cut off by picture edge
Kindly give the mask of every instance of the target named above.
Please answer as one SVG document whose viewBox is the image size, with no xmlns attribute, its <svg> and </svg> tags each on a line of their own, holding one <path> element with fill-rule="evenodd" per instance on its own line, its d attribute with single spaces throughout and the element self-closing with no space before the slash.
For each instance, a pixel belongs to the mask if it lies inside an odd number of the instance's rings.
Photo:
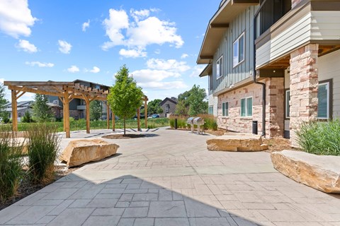
<svg viewBox="0 0 340 226">
<path fill-rule="evenodd" d="M 271 153 L 273 166 L 287 177 L 327 193 L 340 193 L 340 157 L 283 150 Z"/>
</svg>

